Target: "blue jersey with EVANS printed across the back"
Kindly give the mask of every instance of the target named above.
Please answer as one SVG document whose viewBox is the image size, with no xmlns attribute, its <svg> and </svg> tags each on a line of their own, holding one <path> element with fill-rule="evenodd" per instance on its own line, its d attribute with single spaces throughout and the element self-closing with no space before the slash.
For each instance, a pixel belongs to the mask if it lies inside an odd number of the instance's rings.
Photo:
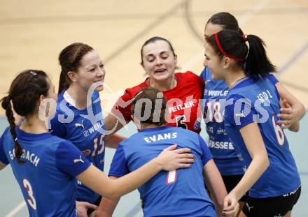
<svg viewBox="0 0 308 217">
<path fill-rule="evenodd" d="M 141 130 L 119 144 L 109 176 L 122 177 L 137 170 L 172 144 L 192 149 L 195 163 L 188 169 L 159 172 L 138 188 L 144 216 L 216 216 L 202 175 L 211 153 L 193 131 L 172 126 Z"/>
</svg>

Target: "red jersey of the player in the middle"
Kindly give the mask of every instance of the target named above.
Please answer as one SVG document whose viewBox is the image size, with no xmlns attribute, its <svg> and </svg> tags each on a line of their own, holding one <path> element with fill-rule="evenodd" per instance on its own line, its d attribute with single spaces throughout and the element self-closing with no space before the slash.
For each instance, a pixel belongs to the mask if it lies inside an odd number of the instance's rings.
<svg viewBox="0 0 308 217">
<path fill-rule="evenodd" d="M 162 91 L 169 112 L 166 125 L 179 126 L 200 133 L 202 112 L 199 103 L 203 96 L 204 80 L 190 71 L 175 73 L 175 80 L 177 84 L 174 89 Z M 131 104 L 127 102 L 132 102 L 135 94 L 145 87 L 150 87 L 149 78 L 135 87 L 126 89 L 114 105 L 113 114 L 120 112 L 126 122 L 131 121 Z M 117 114 L 116 116 L 119 117 Z"/>
</svg>

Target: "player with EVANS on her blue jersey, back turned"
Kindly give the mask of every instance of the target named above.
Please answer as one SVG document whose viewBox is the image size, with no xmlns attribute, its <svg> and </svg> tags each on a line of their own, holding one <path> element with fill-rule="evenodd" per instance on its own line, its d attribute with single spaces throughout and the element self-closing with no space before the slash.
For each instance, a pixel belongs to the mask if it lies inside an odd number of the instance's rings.
<svg viewBox="0 0 308 217">
<path fill-rule="evenodd" d="M 170 144 L 189 147 L 196 160 L 189 170 L 160 172 L 139 188 L 144 216 L 217 216 L 216 210 L 219 216 L 235 216 L 237 202 L 222 213 L 227 191 L 207 144 L 191 130 L 165 126 L 166 109 L 165 97 L 156 89 L 147 87 L 136 94 L 131 112 L 140 130 L 120 142 L 109 176 L 118 178 L 137 170 Z M 216 202 L 216 210 L 204 187 L 204 180 Z M 100 215 L 112 216 L 117 202 L 103 198 Z"/>
</svg>

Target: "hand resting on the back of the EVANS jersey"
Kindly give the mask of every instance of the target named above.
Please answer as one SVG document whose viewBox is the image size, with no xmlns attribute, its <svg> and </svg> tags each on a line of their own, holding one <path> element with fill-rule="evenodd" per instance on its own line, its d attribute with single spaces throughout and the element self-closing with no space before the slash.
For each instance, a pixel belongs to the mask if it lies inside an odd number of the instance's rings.
<svg viewBox="0 0 308 217">
<path fill-rule="evenodd" d="M 164 149 L 158 156 L 162 170 L 176 170 L 178 168 L 190 167 L 195 162 L 195 156 L 190 149 L 176 149 L 176 144 Z"/>
</svg>

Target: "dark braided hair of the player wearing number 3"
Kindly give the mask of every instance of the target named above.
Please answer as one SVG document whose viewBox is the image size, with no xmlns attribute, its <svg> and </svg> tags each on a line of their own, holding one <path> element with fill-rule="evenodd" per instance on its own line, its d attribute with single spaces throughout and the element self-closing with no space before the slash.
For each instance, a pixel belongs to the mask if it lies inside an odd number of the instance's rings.
<svg viewBox="0 0 308 217">
<path fill-rule="evenodd" d="M 22 147 L 18 142 L 18 135 L 15 130 L 15 118 L 13 110 L 22 117 L 33 114 L 41 95 L 47 96 L 50 82 L 47 75 L 41 70 L 25 70 L 18 74 L 10 84 L 8 96 L 3 97 L 1 105 L 6 110 L 6 117 L 10 124 L 10 134 L 14 140 L 15 158 L 18 163 L 22 157 Z M 13 104 L 13 107 L 11 106 Z"/>
</svg>

